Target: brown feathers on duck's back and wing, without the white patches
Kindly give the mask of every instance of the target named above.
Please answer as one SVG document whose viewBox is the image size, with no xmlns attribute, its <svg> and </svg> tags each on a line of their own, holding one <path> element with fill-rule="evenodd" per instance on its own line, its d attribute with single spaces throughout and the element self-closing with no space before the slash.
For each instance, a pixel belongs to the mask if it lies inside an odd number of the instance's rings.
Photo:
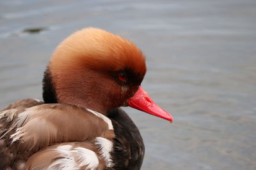
<svg viewBox="0 0 256 170">
<path fill-rule="evenodd" d="M 60 152 L 53 150 L 61 145 L 71 145 L 73 148 L 83 146 L 100 155 L 95 138 L 112 140 L 115 137 L 113 129 L 109 129 L 102 118 L 69 104 L 44 104 L 35 99 L 24 99 L 4 108 L 0 112 L 0 120 L 0 169 L 20 169 L 25 166 L 28 169 L 41 169 L 50 166 L 53 160 L 61 158 Z M 77 142 L 65 143 L 68 141 Z M 56 143 L 60 144 L 54 145 Z M 33 155 L 35 152 L 38 153 Z M 104 165 L 106 162 L 100 159 L 98 169 Z"/>
</svg>

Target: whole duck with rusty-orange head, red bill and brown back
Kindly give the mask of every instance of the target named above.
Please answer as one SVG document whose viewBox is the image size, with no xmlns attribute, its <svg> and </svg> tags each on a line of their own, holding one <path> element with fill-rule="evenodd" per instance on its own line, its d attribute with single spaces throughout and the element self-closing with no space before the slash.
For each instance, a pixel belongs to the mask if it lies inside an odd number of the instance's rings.
<svg viewBox="0 0 256 170">
<path fill-rule="evenodd" d="M 0 169 L 140 169 L 145 146 L 120 108 L 173 121 L 141 87 L 143 52 L 128 39 L 87 27 L 52 53 L 42 96 L 0 111 Z"/>
</svg>

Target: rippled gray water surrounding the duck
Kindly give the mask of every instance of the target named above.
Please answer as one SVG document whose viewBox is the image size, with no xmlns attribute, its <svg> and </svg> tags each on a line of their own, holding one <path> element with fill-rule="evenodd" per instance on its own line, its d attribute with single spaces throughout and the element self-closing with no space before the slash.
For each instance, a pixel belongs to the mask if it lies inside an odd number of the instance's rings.
<svg viewBox="0 0 256 170">
<path fill-rule="evenodd" d="M 42 99 L 54 48 L 89 26 L 143 50 L 143 87 L 174 117 L 125 108 L 145 142 L 142 169 L 256 169 L 255 0 L 1 0 L 0 107 Z"/>
</svg>

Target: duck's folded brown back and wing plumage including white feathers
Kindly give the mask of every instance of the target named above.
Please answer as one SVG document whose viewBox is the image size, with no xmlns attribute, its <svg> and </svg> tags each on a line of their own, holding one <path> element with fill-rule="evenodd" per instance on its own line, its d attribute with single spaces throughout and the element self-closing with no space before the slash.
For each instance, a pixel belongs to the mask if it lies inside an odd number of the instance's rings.
<svg viewBox="0 0 256 170">
<path fill-rule="evenodd" d="M 69 104 L 36 101 L 26 106 L 13 105 L 0 112 L 0 169 L 10 165 L 15 169 L 102 169 L 109 165 L 111 158 L 101 159 L 101 155 L 109 154 L 111 147 L 102 152 L 94 141 L 115 137 L 108 117 Z"/>
</svg>

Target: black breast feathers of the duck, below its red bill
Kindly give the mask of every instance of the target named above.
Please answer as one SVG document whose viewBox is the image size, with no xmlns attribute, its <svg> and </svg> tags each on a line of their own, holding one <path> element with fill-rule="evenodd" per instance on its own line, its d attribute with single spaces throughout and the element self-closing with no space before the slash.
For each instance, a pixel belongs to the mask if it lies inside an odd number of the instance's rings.
<svg viewBox="0 0 256 170">
<path fill-rule="evenodd" d="M 111 152 L 112 168 L 140 169 L 145 153 L 140 131 L 121 108 L 109 111 L 108 117 L 112 120 L 115 132 Z"/>
</svg>

